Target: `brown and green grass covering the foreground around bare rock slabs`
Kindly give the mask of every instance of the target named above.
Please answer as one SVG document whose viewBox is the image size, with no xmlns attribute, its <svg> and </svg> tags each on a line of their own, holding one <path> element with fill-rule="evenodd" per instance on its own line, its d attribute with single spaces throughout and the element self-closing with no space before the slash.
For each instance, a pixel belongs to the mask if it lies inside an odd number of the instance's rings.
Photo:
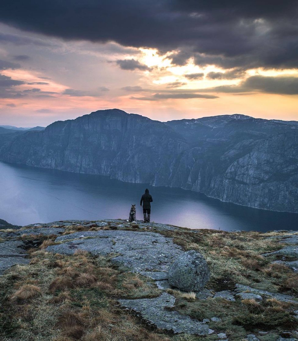
<svg viewBox="0 0 298 341">
<path fill-rule="evenodd" d="M 204 255 L 211 271 L 206 288 L 211 292 L 232 291 L 239 283 L 298 297 L 298 275 L 282 264 L 271 264 L 273 256 L 262 256 L 284 246 L 275 239 L 281 233 L 183 228 L 167 231 L 155 228 L 154 224 L 147 230 L 138 225 L 123 227 L 121 222 L 103 227 L 66 226 L 63 235 L 102 229 L 157 232 L 173 238 L 185 251 L 197 250 Z M 159 296 L 162 291 L 154 280 L 112 264 L 115 254 L 94 256 L 82 250 L 73 255 L 47 252 L 55 238 L 34 233 L 18 237 L 27 243 L 30 264 L 13 266 L 0 277 L 1 340 L 211 341 L 218 340 L 217 333 L 223 332 L 230 341 L 245 341 L 248 334 L 266 331 L 267 334 L 258 336 L 259 340 L 275 341 L 285 331 L 295 335 L 298 320 L 292 311 L 298 309 L 297 298 L 292 302 L 266 295 L 261 302 L 240 298 L 197 299 L 194 293 L 175 288 L 166 290 L 176 297 L 175 306 L 169 309 L 199 321 L 217 316 L 220 322 L 208 322 L 215 332 L 204 337 L 173 335 L 157 329 L 117 301 Z"/>
</svg>

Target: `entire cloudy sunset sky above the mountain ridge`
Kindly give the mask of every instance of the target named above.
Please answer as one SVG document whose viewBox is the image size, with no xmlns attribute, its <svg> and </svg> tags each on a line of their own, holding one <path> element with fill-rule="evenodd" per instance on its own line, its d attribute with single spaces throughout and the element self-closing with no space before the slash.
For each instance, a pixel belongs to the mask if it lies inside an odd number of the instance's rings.
<svg viewBox="0 0 298 341">
<path fill-rule="evenodd" d="M 0 124 L 298 120 L 298 2 L 1 0 Z"/>
</svg>

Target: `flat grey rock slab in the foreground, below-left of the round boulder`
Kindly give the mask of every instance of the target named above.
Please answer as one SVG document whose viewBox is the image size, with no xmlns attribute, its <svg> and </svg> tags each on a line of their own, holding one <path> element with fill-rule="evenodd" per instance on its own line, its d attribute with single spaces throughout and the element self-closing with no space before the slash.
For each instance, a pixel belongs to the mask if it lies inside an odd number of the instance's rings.
<svg viewBox="0 0 298 341">
<path fill-rule="evenodd" d="M 147 323 L 157 328 L 171 330 L 174 333 L 204 336 L 214 332 L 205 323 L 180 315 L 177 311 L 168 310 L 167 308 L 174 306 L 175 297 L 167 293 L 156 298 L 120 299 L 118 302 L 122 307 L 139 313 Z"/>
</svg>

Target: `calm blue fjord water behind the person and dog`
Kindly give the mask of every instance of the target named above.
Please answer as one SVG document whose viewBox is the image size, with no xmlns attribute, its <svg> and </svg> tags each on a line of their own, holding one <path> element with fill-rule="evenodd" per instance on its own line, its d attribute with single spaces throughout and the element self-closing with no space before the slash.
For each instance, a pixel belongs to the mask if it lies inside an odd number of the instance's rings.
<svg viewBox="0 0 298 341">
<path fill-rule="evenodd" d="M 128 219 L 148 187 L 151 221 L 188 228 L 268 231 L 298 229 L 298 214 L 224 203 L 178 188 L 121 182 L 104 176 L 0 162 L 0 218 L 26 225 L 65 219 Z"/>
</svg>

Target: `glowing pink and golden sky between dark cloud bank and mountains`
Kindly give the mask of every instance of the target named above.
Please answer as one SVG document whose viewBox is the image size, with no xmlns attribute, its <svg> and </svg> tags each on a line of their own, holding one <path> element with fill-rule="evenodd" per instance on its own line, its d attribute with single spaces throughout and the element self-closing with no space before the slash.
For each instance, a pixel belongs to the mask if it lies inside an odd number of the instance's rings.
<svg viewBox="0 0 298 341">
<path fill-rule="evenodd" d="M 272 31 L 268 19 L 239 23 L 256 42 Z M 233 113 L 297 119 L 298 70 L 285 63 L 252 67 L 245 54 L 225 57 L 206 46 L 198 53 L 44 33 L 0 24 L 1 124 L 47 125 L 114 107 L 159 120 Z"/>
</svg>

